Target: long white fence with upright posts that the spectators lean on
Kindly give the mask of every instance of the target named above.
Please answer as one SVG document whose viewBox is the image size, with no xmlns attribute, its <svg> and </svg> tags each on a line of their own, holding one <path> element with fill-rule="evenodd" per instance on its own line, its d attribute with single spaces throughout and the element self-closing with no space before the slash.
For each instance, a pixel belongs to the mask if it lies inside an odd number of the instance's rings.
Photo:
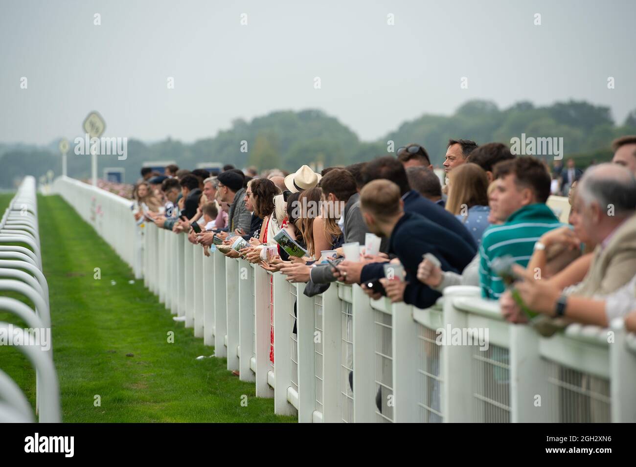
<svg viewBox="0 0 636 467">
<path fill-rule="evenodd" d="M 70 179 L 55 187 L 78 212 L 97 190 Z M 205 257 L 184 235 L 155 225 L 140 235 L 124 201 L 113 200 L 111 212 L 111 196 L 96 198 L 123 229 L 112 236 L 102 224 L 98 232 L 107 241 L 141 238 L 144 254 L 128 241 L 122 257 L 146 271 L 149 289 L 228 369 L 254 382 L 256 396 L 274 398 L 277 414 L 302 422 L 636 421 L 636 336 L 621 320 L 548 338 L 503 321 L 476 287 L 448 287 L 429 309 L 371 301 L 342 283 L 307 297 L 304 284 L 218 251 Z"/>
</svg>

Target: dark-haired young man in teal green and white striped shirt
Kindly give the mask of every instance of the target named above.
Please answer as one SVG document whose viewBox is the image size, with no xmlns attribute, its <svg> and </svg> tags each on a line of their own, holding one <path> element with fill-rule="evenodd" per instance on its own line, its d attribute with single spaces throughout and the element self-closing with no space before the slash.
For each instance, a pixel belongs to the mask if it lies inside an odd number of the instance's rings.
<svg viewBox="0 0 636 467">
<path fill-rule="evenodd" d="M 539 237 L 561 224 L 546 205 L 550 175 L 539 159 L 523 156 L 494 167 L 495 189 L 490 195 L 490 215 L 504 224 L 488 227 L 481 237 L 481 295 L 499 299 L 506 285 L 492 270 L 492 261 L 511 256 L 525 267 Z"/>
</svg>

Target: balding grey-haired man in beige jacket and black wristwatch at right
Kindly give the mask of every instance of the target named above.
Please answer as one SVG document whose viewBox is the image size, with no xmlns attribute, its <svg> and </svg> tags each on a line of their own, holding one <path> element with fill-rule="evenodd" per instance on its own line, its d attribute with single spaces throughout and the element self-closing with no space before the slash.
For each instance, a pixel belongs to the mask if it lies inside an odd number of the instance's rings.
<svg viewBox="0 0 636 467">
<path fill-rule="evenodd" d="M 513 266 L 523 278 L 516 288 L 532 311 L 607 326 L 629 311 L 628 299 L 636 298 L 633 286 L 626 287 L 636 276 L 636 179 L 616 163 L 593 166 L 583 174 L 576 202 L 583 229 L 597 244 L 583 280 L 562 289 L 569 284 L 533 279 Z M 542 248 L 539 242 L 537 246 Z M 516 310 L 506 319 L 515 321 L 519 315 Z"/>
</svg>

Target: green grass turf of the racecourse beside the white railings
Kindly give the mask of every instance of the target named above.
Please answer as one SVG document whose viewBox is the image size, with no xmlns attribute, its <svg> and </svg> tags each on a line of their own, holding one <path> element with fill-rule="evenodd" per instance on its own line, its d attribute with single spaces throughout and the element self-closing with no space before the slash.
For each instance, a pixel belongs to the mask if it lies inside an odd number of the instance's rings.
<svg viewBox="0 0 636 467">
<path fill-rule="evenodd" d="M 256 398 L 254 384 L 228 372 L 225 358 L 195 360 L 213 349 L 172 320 L 142 280 L 129 284 L 130 267 L 62 198 L 38 196 L 38 210 L 63 421 L 296 421 L 275 416 L 273 400 Z M 2 312 L 0 320 L 19 323 Z M 0 348 L 0 367 L 34 403 L 35 376 L 25 358 Z M 93 405 L 95 395 L 101 407 Z"/>
</svg>

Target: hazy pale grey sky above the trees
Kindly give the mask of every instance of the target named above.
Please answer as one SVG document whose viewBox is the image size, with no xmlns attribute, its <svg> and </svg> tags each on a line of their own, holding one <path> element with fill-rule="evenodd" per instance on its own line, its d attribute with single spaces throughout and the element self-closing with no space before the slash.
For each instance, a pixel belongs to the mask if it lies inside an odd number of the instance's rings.
<svg viewBox="0 0 636 467">
<path fill-rule="evenodd" d="M 0 0 L 0 142 L 75 137 L 92 110 L 104 135 L 186 142 L 308 107 L 371 140 L 471 98 L 584 99 L 622 122 L 635 13 L 600 0 Z"/>
</svg>

